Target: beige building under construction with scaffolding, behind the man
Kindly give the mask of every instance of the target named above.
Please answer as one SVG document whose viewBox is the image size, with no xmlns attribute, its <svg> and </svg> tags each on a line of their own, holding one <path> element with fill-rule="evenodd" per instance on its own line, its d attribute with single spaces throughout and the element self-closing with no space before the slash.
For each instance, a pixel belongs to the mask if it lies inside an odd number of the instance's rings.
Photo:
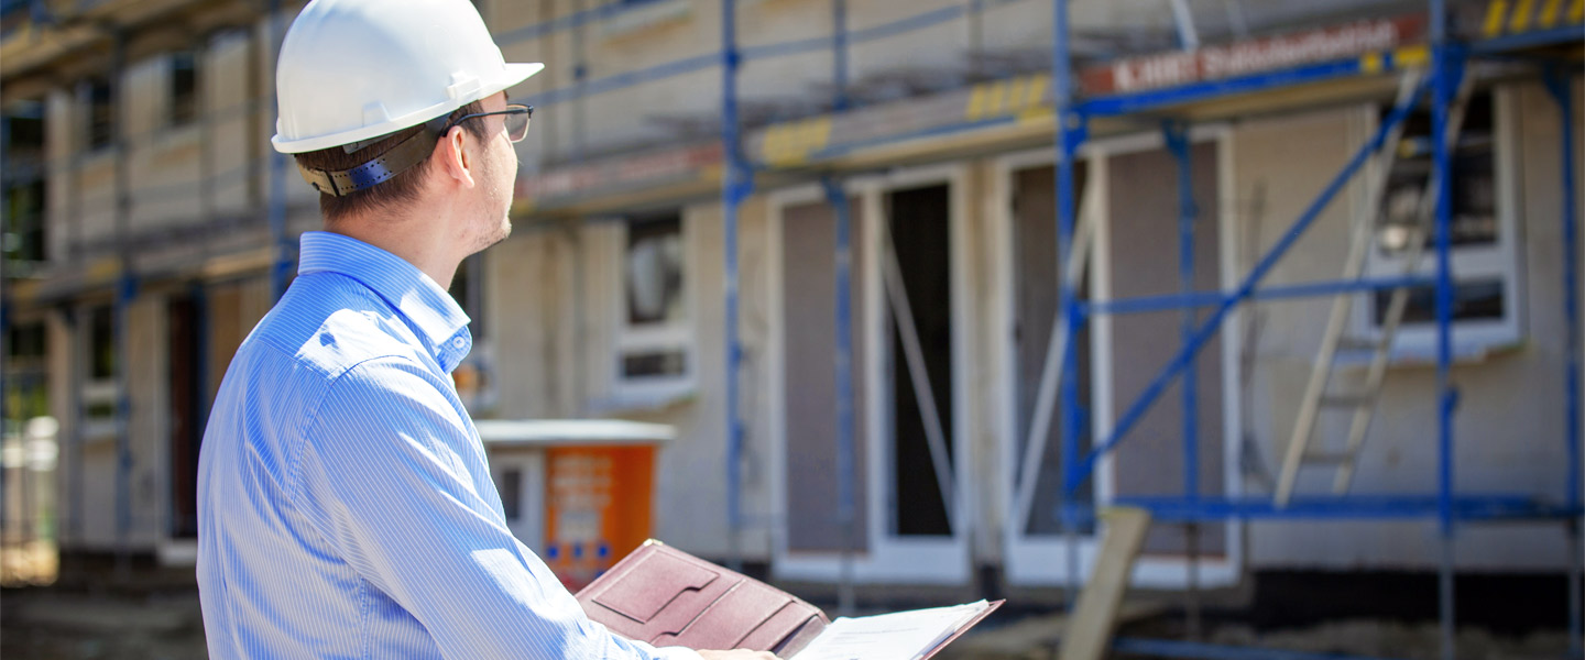
<svg viewBox="0 0 1585 660">
<path fill-rule="evenodd" d="M 268 144 L 300 5 L 5 3 L 5 416 L 60 421 L 63 552 L 193 560 L 320 223 Z M 656 538 L 1033 592 L 1129 503 L 1135 587 L 1425 576 L 1450 628 L 1455 576 L 1542 579 L 1580 652 L 1585 2 L 476 5 L 547 70 L 458 391 L 675 427 Z"/>
</svg>

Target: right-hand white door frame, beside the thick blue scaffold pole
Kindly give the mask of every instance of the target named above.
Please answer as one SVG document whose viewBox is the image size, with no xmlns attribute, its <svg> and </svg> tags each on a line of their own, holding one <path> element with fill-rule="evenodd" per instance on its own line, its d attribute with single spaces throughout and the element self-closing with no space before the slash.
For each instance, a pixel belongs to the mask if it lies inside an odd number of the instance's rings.
<svg viewBox="0 0 1585 660">
<path fill-rule="evenodd" d="M 1236 209 L 1232 201 L 1235 199 L 1235 171 L 1233 171 L 1233 150 L 1232 150 L 1232 130 L 1225 125 L 1205 125 L 1195 127 L 1190 131 L 1192 142 L 1214 142 L 1217 147 L 1217 196 L 1219 196 L 1219 237 L 1220 237 L 1220 258 L 1219 258 L 1219 279 L 1222 288 L 1232 288 L 1236 285 L 1239 277 L 1238 264 L 1238 217 Z M 1097 195 L 1095 217 L 1100 220 L 1094 228 L 1094 244 L 1090 247 L 1090 288 L 1089 296 L 1092 301 L 1108 301 L 1111 299 L 1111 209 L 1108 204 L 1110 195 L 1110 177 L 1108 177 L 1108 160 L 1113 155 L 1135 154 L 1144 150 L 1155 150 L 1165 146 L 1162 135 L 1159 131 L 1136 133 L 1117 138 L 1097 139 L 1084 144 L 1079 152 L 1079 158 L 1089 161 L 1087 177 L 1094 177 L 1094 192 Z M 1002 388 L 1005 396 L 1002 397 L 1002 407 L 997 412 L 1000 416 L 1002 434 L 999 434 L 1002 442 L 1002 475 L 1003 481 L 1008 484 L 1008 491 L 1016 484 L 1018 478 L 1018 442 L 1016 434 L 1019 432 L 1018 424 L 1018 347 L 1011 342 L 1014 324 L 1018 323 L 1016 313 L 1013 310 L 1013 286 L 1016 285 L 1016 272 L 1013 263 L 1013 174 L 1019 169 L 1041 165 L 1052 165 L 1056 161 L 1052 149 L 1035 149 L 1018 154 L 1008 154 L 994 161 L 995 174 L 992 176 L 992 199 L 994 207 L 991 209 L 991 231 L 992 236 L 992 258 L 997 263 L 994 277 L 999 280 L 994 286 L 997 291 L 995 309 L 1000 315 L 1000 342 L 999 361 L 1002 372 Z M 1222 326 L 1222 418 L 1224 418 L 1224 438 L 1222 438 L 1222 475 L 1224 489 L 1228 497 L 1238 495 L 1241 492 L 1241 481 L 1238 480 L 1238 443 L 1243 437 L 1241 416 L 1238 415 L 1238 347 L 1241 342 L 1238 318 L 1241 313 L 1230 317 Z M 1097 315 L 1090 323 L 1090 419 L 1092 437 L 1105 437 L 1111 432 L 1116 415 L 1113 407 L 1116 404 L 1113 391 L 1113 321 L 1110 315 Z M 1048 449 L 1049 451 L 1049 449 Z M 1113 454 L 1105 454 L 1097 461 L 1095 472 L 1095 502 L 1106 503 L 1116 497 L 1116 464 Z M 1065 586 L 1068 584 L 1068 543 L 1057 535 L 1052 537 L 1032 537 L 1024 533 L 1024 521 L 1016 521 L 1016 511 L 1011 511 L 1010 492 L 1003 492 L 1008 505 L 1002 506 L 1003 514 L 1003 552 L 1005 552 L 1005 568 L 1006 579 L 1011 584 L 1021 586 Z M 1227 552 L 1222 557 L 1201 557 L 1198 565 L 1200 586 L 1217 587 L 1232 586 L 1238 582 L 1238 576 L 1243 565 L 1243 544 L 1238 540 L 1243 538 L 1243 525 L 1238 521 L 1227 522 Z M 1079 581 L 1087 579 L 1094 568 L 1095 554 L 1098 551 L 1097 535 L 1079 535 L 1075 540 L 1075 549 L 1079 563 Z M 1186 589 L 1189 584 L 1189 562 L 1187 557 L 1181 556 L 1160 556 L 1160 554 L 1144 554 L 1135 563 L 1133 586 L 1149 587 L 1149 589 Z"/>
</svg>

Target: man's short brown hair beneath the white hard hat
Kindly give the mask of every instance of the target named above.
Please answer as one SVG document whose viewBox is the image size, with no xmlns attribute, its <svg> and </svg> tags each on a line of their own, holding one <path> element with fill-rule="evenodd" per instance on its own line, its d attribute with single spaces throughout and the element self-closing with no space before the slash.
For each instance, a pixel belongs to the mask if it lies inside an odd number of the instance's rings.
<svg viewBox="0 0 1585 660">
<path fill-rule="evenodd" d="M 458 108 L 455 112 L 450 114 L 449 119 L 456 120 L 458 117 L 483 111 L 485 111 L 483 103 L 474 101 Z M 479 139 L 488 138 L 483 122 L 463 122 L 460 125 L 474 138 Z M 379 142 L 372 142 L 368 147 L 358 149 L 353 154 L 347 154 L 341 146 L 320 149 L 317 152 L 298 154 L 296 161 L 300 166 L 311 169 L 352 169 L 377 158 L 380 154 L 385 154 L 391 147 L 401 144 L 401 141 L 417 135 L 422 130 L 423 125 L 420 123 L 417 127 L 407 127 L 395 133 L 387 133 L 385 136 L 379 138 Z M 428 171 L 430 171 L 430 157 L 425 157 L 423 160 L 418 161 L 418 165 L 414 165 L 372 187 L 363 190 L 353 190 L 342 196 L 320 193 L 319 211 L 320 214 L 325 215 L 325 222 L 336 222 L 349 215 L 384 209 L 388 207 L 390 204 L 414 201 L 418 198 L 418 187 L 423 184 L 423 176 Z"/>
</svg>

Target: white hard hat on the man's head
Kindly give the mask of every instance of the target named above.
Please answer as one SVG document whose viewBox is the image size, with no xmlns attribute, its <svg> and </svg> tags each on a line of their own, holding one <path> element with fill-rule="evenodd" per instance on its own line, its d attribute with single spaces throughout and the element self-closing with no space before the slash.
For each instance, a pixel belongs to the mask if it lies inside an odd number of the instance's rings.
<svg viewBox="0 0 1585 660">
<path fill-rule="evenodd" d="M 281 44 L 269 142 L 301 154 L 377 138 L 542 68 L 507 63 L 468 0 L 312 0 Z"/>
</svg>

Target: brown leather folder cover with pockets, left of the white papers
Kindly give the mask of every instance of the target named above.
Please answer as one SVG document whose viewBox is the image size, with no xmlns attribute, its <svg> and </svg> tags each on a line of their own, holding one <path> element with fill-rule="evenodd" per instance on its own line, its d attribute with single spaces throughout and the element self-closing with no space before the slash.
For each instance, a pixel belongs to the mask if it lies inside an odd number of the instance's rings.
<svg viewBox="0 0 1585 660">
<path fill-rule="evenodd" d="M 590 619 L 629 639 L 789 657 L 829 622 L 819 608 L 659 541 L 645 541 L 583 587 Z"/>
</svg>

